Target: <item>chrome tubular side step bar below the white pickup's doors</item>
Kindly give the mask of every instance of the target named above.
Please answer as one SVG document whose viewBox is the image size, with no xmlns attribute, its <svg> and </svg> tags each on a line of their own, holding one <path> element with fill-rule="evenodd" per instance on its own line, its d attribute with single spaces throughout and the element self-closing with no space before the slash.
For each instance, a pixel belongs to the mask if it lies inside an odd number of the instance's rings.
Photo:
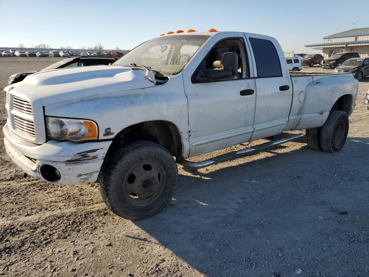
<svg viewBox="0 0 369 277">
<path fill-rule="evenodd" d="M 269 138 L 265 138 L 266 140 L 270 140 L 269 142 L 263 143 L 263 144 L 259 144 L 259 145 L 255 145 L 253 147 L 250 148 L 246 148 L 246 149 L 242 149 L 242 150 L 238 150 L 238 151 L 232 151 L 230 153 L 226 153 L 214 158 L 211 158 L 210 160 L 206 160 L 206 161 L 202 161 L 202 162 L 192 162 L 192 161 L 187 161 L 185 159 L 181 159 L 178 160 L 177 163 L 182 164 L 184 167 L 189 167 L 189 168 L 203 168 L 203 167 L 208 167 L 210 165 L 213 164 L 217 164 L 223 161 L 228 161 L 228 160 L 233 160 L 235 158 L 239 158 L 242 156 L 246 156 L 248 154 L 254 154 L 258 151 L 261 151 L 265 148 L 269 148 L 272 146 L 277 146 L 292 140 L 296 140 L 297 138 L 303 137 L 304 134 L 291 134 L 286 138 L 281 138 L 279 140 L 273 140 L 274 137 L 269 137 Z"/>
</svg>

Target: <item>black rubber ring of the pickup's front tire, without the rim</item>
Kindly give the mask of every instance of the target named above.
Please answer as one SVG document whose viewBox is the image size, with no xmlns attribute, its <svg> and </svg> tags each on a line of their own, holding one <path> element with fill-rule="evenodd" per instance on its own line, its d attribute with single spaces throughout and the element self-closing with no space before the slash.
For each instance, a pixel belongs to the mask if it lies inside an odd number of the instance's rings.
<svg viewBox="0 0 369 277">
<path fill-rule="evenodd" d="M 117 205 L 113 202 L 113 200 L 109 197 L 109 195 L 113 192 L 110 191 L 110 184 L 111 182 L 114 182 L 113 179 L 115 177 L 116 167 L 120 166 L 122 167 L 122 163 L 124 163 L 125 160 L 129 160 L 130 158 L 137 157 L 139 155 L 142 155 L 144 152 L 147 151 L 156 151 L 158 155 L 162 155 L 167 161 L 169 166 L 172 168 L 172 170 L 175 171 L 175 176 L 171 176 L 173 178 L 173 188 L 171 190 L 171 195 L 174 194 L 177 182 L 178 182 L 178 168 L 175 160 L 173 159 L 172 155 L 161 145 L 151 142 L 151 141 L 135 141 L 132 143 L 129 143 L 121 148 L 119 148 L 115 153 L 111 153 L 108 157 L 108 160 L 106 161 L 106 165 L 103 168 L 103 172 L 101 174 L 101 182 L 100 182 L 100 193 L 103 198 L 104 203 L 106 206 L 115 213 L 116 215 L 131 219 L 131 220 L 138 220 L 138 219 L 144 219 L 148 218 L 150 216 L 155 215 L 156 213 L 162 211 L 162 209 L 165 208 L 166 205 L 168 205 L 171 197 L 166 199 L 165 205 L 163 205 L 160 209 L 149 211 L 145 213 L 144 215 L 137 216 L 133 211 L 124 211 L 117 209 Z"/>
</svg>

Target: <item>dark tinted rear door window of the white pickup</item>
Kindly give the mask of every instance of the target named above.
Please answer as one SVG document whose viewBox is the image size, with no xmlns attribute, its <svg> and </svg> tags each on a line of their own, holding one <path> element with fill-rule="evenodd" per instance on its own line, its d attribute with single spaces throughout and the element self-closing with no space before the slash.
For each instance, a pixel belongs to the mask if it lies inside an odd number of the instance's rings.
<svg viewBox="0 0 369 277">
<path fill-rule="evenodd" d="M 259 78 L 281 77 L 282 69 L 274 44 L 269 40 L 249 38 Z"/>
</svg>

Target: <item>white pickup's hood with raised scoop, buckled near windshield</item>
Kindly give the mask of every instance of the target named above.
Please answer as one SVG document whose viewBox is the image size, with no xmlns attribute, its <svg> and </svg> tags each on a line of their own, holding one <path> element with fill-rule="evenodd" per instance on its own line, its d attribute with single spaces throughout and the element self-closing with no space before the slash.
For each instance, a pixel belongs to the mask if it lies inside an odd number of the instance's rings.
<svg viewBox="0 0 369 277">
<path fill-rule="evenodd" d="M 155 83 L 146 71 L 123 66 L 94 65 L 41 71 L 27 76 L 14 88 L 21 88 L 41 99 L 42 105 L 69 101 L 123 90 L 149 88 Z"/>
</svg>

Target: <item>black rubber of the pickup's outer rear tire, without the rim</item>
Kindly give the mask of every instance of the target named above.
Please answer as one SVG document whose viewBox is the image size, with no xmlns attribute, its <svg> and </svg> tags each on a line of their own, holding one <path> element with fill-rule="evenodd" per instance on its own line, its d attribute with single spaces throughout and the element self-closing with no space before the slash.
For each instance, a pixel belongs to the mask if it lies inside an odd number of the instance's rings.
<svg viewBox="0 0 369 277">
<path fill-rule="evenodd" d="M 333 111 L 330 112 L 327 120 L 325 121 L 325 123 L 321 127 L 321 131 L 320 131 L 320 147 L 325 152 L 337 153 L 339 150 L 341 150 L 341 149 L 336 149 L 334 147 L 334 143 L 333 143 L 333 140 L 332 140 L 334 130 L 335 130 L 335 126 L 336 126 L 337 121 L 339 120 L 340 117 L 344 117 L 344 119 L 346 120 L 346 123 L 347 123 L 346 136 L 344 138 L 344 140 L 346 141 L 348 126 L 349 126 L 348 115 L 344 111 L 333 110 Z"/>
</svg>

